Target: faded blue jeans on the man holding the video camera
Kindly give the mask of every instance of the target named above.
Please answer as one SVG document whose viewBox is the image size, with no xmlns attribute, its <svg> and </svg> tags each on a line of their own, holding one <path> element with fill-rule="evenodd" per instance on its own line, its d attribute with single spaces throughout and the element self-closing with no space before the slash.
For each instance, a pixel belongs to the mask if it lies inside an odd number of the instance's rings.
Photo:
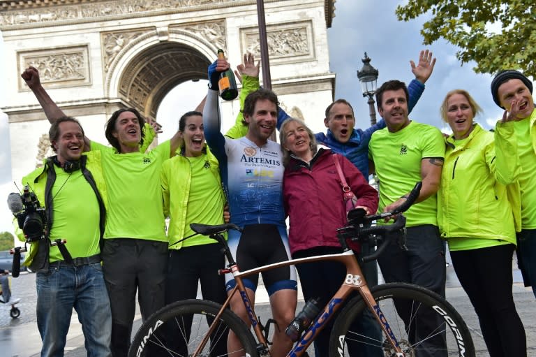
<svg viewBox="0 0 536 357">
<path fill-rule="evenodd" d="M 37 272 L 37 326 L 42 357 L 62 357 L 73 307 L 82 324 L 88 357 L 111 356 L 112 313 L 101 263 L 52 265 Z"/>
</svg>

